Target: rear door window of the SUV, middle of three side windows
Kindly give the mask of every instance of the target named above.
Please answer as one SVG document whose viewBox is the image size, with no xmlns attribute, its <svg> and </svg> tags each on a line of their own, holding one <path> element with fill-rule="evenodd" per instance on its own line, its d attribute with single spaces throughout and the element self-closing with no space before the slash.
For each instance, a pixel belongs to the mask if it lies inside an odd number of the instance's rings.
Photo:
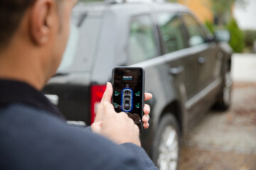
<svg viewBox="0 0 256 170">
<path fill-rule="evenodd" d="M 159 13 L 157 20 L 165 54 L 186 47 L 181 19 L 176 14 Z"/>
</svg>

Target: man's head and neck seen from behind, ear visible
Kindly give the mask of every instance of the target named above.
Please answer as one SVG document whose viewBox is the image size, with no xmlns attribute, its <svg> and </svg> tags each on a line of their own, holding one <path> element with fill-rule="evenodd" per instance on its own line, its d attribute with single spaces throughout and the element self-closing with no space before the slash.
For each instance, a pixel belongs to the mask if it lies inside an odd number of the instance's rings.
<svg viewBox="0 0 256 170">
<path fill-rule="evenodd" d="M 43 87 L 60 64 L 76 1 L 0 1 L 0 78 Z"/>
</svg>

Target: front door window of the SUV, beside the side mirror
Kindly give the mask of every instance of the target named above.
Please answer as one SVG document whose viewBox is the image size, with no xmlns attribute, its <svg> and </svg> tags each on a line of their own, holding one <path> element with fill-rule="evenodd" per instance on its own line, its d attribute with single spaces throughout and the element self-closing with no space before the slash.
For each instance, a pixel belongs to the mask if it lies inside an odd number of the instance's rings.
<svg viewBox="0 0 256 170">
<path fill-rule="evenodd" d="M 207 35 L 198 21 L 190 14 L 183 14 L 182 17 L 188 30 L 188 45 L 196 46 L 203 44 L 207 39 Z"/>
</svg>

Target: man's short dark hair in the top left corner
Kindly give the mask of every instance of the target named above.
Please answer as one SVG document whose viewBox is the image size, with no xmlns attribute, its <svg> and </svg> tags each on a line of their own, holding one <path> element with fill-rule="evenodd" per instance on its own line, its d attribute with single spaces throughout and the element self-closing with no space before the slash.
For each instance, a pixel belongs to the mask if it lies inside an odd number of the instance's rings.
<svg viewBox="0 0 256 170">
<path fill-rule="evenodd" d="M 0 0 L 0 47 L 8 44 L 26 9 L 36 0 Z"/>
</svg>

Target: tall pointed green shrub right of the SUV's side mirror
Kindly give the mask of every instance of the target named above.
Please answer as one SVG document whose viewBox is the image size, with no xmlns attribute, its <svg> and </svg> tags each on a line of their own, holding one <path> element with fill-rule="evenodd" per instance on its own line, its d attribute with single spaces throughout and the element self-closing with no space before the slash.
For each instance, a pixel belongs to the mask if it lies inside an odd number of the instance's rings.
<svg viewBox="0 0 256 170">
<path fill-rule="evenodd" d="M 234 52 L 242 52 L 245 47 L 245 36 L 234 18 L 228 23 L 226 28 L 231 34 L 230 46 L 233 48 Z"/>
</svg>

